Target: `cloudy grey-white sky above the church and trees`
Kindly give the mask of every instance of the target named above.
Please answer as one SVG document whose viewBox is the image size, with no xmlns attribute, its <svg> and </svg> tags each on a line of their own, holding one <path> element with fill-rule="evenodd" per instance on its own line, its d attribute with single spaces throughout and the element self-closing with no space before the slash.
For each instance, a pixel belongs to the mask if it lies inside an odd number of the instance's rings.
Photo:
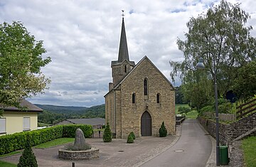
<svg viewBox="0 0 256 167">
<path fill-rule="evenodd" d="M 228 0 L 247 11 L 256 30 L 256 1 Z M 170 80 L 169 60 L 183 60 L 176 45 L 186 23 L 218 1 L 210 0 L 1 0 L 0 22 L 21 21 L 43 41 L 52 62 L 42 68 L 52 81 L 36 104 L 90 107 L 105 103 L 112 81 L 110 63 L 117 60 L 122 9 L 130 60 L 144 55 Z M 256 31 L 252 36 L 256 37 Z M 175 83 L 174 85 L 178 85 Z"/>
</svg>

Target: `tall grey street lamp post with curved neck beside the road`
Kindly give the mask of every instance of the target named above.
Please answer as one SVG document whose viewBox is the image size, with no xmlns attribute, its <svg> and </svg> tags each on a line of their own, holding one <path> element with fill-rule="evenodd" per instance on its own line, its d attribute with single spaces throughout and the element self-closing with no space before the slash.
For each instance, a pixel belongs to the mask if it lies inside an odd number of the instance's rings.
<svg viewBox="0 0 256 167">
<path fill-rule="evenodd" d="M 218 90 L 217 90 L 217 79 L 216 79 L 216 65 L 215 65 L 215 55 L 210 52 L 206 51 L 202 54 L 202 56 L 206 53 L 210 53 L 213 56 L 213 71 L 214 71 L 214 95 L 215 95 L 215 118 L 216 118 L 216 165 L 220 166 L 220 141 L 219 141 L 219 122 L 218 122 Z M 203 58 L 199 59 L 199 62 L 196 64 L 197 69 L 204 69 L 205 66 L 203 65 Z"/>
</svg>

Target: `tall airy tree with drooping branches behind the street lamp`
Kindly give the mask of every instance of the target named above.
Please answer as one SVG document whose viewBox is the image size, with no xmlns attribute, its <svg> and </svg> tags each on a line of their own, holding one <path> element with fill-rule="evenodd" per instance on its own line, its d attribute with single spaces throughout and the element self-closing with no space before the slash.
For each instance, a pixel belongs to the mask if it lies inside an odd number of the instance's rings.
<svg viewBox="0 0 256 167">
<path fill-rule="evenodd" d="M 206 77 L 213 81 L 215 75 L 213 60 L 215 60 L 218 95 L 230 90 L 233 80 L 238 75 L 238 68 L 255 60 L 256 40 L 250 35 L 252 26 L 246 26 L 250 15 L 240 9 L 240 4 L 230 4 L 220 1 L 206 14 L 191 18 L 188 23 L 188 33 L 184 41 L 178 38 L 178 49 L 183 52 L 182 62 L 170 61 L 171 78 L 180 76 L 184 84 L 196 84 L 200 72 L 195 72 L 196 63 L 204 58 Z M 214 53 L 202 55 L 205 51 Z M 214 59 L 213 59 L 214 56 Z"/>
</svg>

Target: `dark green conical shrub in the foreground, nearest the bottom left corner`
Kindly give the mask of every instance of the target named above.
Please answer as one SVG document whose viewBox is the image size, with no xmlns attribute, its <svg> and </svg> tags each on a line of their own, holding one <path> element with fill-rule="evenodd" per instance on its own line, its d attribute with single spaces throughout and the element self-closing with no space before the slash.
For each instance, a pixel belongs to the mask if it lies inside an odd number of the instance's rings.
<svg viewBox="0 0 256 167">
<path fill-rule="evenodd" d="M 37 167 L 37 161 L 36 156 L 34 155 L 31 144 L 30 144 L 30 137 L 29 135 L 26 136 L 26 145 L 25 149 L 19 158 L 17 167 L 24 167 L 24 166 L 31 166 L 31 167 Z"/>
</svg>

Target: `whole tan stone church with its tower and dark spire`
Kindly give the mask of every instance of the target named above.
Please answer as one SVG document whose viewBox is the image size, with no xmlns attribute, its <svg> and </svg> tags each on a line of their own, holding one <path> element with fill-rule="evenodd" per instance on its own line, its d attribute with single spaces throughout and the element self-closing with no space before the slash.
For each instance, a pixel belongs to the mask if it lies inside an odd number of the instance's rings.
<svg viewBox="0 0 256 167">
<path fill-rule="evenodd" d="M 137 137 L 159 136 L 162 122 L 168 134 L 175 134 L 175 89 L 146 56 L 137 65 L 129 60 L 124 17 L 118 60 L 111 68 L 105 120 L 114 137 L 127 138 L 131 131 Z"/>
</svg>

